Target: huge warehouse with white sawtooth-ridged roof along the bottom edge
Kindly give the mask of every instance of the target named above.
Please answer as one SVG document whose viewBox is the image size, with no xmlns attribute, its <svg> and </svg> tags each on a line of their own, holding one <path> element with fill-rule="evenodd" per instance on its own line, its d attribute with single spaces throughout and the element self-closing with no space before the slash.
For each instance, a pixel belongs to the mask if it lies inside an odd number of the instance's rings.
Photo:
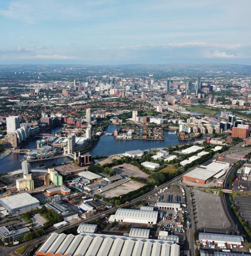
<svg viewBox="0 0 251 256">
<path fill-rule="evenodd" d="M 37 256 L 179 256 L 180 246 L 171 241 L 137 239 L 104 234 L 85 236 L 52 233 L 35 253 Z"/>
</svg>

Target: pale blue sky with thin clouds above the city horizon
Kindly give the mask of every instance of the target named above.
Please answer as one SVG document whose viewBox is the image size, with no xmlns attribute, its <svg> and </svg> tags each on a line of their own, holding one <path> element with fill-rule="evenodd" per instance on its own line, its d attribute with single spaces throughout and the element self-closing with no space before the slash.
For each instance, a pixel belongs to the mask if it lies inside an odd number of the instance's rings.
<svg viewBox="0 0 251 256">
<path fill-rule="evenodd" d="M 251 0 L 0 0 L 0 64 L 251 64 Z"/>
</svg>

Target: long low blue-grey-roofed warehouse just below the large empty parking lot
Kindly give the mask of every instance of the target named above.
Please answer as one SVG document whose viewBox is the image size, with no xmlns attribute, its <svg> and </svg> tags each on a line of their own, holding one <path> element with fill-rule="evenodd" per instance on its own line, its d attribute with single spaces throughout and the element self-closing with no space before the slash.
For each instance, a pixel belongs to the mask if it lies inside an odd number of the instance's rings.
<svg viewBox="0 0 251 256">
<path fill-rule="evenodd" d="M 214 234 L 214 233 L 199 233 L 199 241 L 204 243 L 227 244 L 227 245 L 241 245 L 244 242 L 242 236 Z"/>
</svg>

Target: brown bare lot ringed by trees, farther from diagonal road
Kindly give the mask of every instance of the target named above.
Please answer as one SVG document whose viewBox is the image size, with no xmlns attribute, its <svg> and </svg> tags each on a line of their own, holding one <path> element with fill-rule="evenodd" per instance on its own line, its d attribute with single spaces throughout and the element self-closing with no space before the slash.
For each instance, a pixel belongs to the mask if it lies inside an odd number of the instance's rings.
<svg viewBox="0 0 251 256">
<path fill-rule="evenodd" d="M 148 178 L 148 174 L 142 172 L 138 167 L 130 164 L 122 164 L 114 166 L 113 169 L 116 170 L 116 174 L 120 174 L 125 177 L 138 177 L 138 178 Z"/>
</svg>

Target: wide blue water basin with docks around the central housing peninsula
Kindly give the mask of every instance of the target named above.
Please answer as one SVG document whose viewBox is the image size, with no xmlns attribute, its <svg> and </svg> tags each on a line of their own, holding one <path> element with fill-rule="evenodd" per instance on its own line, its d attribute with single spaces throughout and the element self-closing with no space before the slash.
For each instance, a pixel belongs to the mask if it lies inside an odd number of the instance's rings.
<svg viewBox="0 0 251 256">
<path fill-rule="evenodd" d="M 114 132 L 115 129 L 120 129 L 119 125 L 109 125 L 107 132 Z M 169 133 L 170 132 L 170 133 Z M 160 148 L 171 145 L 179 145 L 192 143 L 196 140 L 179 140 L 177 134 L 171 134 L 173 131 L 164 130 L 165 140 L 146 140 L 146 139 L 133 139 L 133 140 L 117 140 L 114 136 L 102 136 L 97 145 L 88 152 L 93 157 L 95 156 L 108 156 L 113 154 L 121 154 L 125 151 L 131 150 L 146 150 L 150 148 Z M 199 139 L 198 139 L 199 140 Z"/>
</svg>

